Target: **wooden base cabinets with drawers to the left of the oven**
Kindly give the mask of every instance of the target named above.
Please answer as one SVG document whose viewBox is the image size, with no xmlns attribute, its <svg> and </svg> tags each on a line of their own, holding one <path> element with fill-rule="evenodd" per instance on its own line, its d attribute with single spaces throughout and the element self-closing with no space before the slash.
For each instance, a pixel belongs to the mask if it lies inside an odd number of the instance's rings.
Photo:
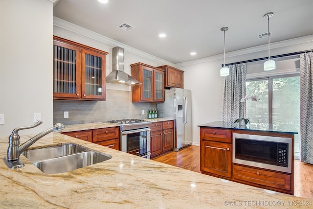
<svg viewBox="0 0 313 209">
<path fill-rule="evenodd" d="M 120 150 L 119 148 L 119 127 L 99 128 L 86 131 L 62 132 L 70 137 L 83 139 L 89 142 Z"/>
</svg>

